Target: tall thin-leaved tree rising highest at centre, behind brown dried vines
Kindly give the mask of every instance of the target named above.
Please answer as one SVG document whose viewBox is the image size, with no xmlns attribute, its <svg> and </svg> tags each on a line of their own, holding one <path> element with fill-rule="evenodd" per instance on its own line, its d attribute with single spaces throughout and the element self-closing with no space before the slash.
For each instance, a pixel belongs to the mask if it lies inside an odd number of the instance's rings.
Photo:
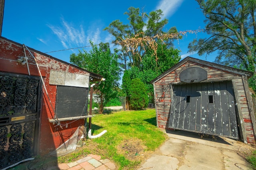
<svg viewBox="0 0 256 170">
<path fill-rule="evenodd" d="M 131 43 L 123 43 L 122 49 L 120 49 L 120 59 L 124 63 L 122 66 L 127 69 L 128 66 L 137 66 L 140 68 L 141 61 L 146 55 L 148 47 L 156 48 L 155 42 L 144 41 L 138 43 L 137 38 L 141 37 L 153 37 L 161 34 L 177 33 L 175 27 L 170 28 L 168 31 L 163 31 L 164 26 L 168 23 L 167 19 L 162 19 L 162 10 L 156 10 L 146 14 L 140 12 L 139 8 L 130 7 L 128 12 L 124 14 L 128 15 L 128 24 L 122 23 L 120 20 L 115 20 L 105 28 L 109 33 L 116 38 L 113 43 L 120 45 L 120 42 L 129 39 Z M 133 38 L 133 39 L 132 39 Z M 163 39 L 167 45 L 172 44 L 171 39 Z"/>
</svg>

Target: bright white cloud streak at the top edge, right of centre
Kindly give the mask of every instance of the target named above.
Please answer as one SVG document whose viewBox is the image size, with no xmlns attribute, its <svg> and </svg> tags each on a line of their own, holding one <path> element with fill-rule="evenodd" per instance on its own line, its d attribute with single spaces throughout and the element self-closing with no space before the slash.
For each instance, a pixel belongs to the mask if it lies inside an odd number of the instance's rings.
<svg viewBox="0 0 256 170">
<path fill-rule="evenodd" d="M 168 18 L 176 12 L 182 2 L 183 0 L 161 0 L 156 7 L 156 10 L 162 10 L 164 17 Z"/>
</svg>

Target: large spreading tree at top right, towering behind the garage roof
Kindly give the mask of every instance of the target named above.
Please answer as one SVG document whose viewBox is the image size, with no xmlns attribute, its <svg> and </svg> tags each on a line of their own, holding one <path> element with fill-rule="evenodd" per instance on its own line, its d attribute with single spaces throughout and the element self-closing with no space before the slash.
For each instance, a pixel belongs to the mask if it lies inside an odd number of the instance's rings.
<svg viewBox="0 0 256 170">
<path fill-rule="evenodd" d="M 256 0 L 196 0 L 204 13 L 208 38 L 188 48 L 199 55 L 218 52 L 216 63 L 256 72 Z"/>
</svg>

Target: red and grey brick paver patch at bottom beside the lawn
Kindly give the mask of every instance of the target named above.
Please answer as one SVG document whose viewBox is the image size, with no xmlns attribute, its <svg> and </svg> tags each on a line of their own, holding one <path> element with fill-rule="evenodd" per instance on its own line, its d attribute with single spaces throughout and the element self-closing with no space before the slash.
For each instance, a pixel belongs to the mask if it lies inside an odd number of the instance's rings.
<svg viewBox="0 0 256 170">
<path fill-rule="evenodd" d="M 101 159 L 101 156 L 89 154 L 76 162 L 58 164 L 47 170 L 116 170 L 116 165 L 109 159 Z"/>
</svg>

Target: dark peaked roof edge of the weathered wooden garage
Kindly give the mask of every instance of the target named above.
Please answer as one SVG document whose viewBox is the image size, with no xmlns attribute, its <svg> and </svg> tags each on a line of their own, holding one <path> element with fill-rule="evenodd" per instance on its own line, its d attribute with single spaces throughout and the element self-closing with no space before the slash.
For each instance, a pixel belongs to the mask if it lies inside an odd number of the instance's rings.
<svg viewBox="0 0 256 170">
<path fill-rule="evenodd" d="M 179 68 L 180 66 L 182 66 L 183 64 L 185 64 L 188 61 L 191 61 L 193 63 L 202 64 L 202 65 L 205 65 L 205 66 L 210 66 L 210 67 L 217 68 L 217 69 L 220 69 L 220 70 L 232 72 L 232 73 L 235 73 L 235 74 L 238 74 L 238 75 L 244 75 L 244 76 L 246 75 L 248 78 L 250 78 L 253 75 L 253 72 L 250 72 L 250 71 L 241 70 L 241 69 L 238 69 L 238 68 L 224 66 L 224 65 L 220 65 L 220 64 L 216 64 L 216 63 L 211 63 L 211 62 L 196 59 L 196 58 L 193 58 L 193 57 L 186 57 L 182 61 L 180 61 L 179 63 L 172 66 L 170 69 L 163 72 L 161 75 L 159 75 L 156 78 L 154 78 L 153 80 L 151 80 L 150 83 L 153 84 L 153 83 L 157 82 L 158 80 L 160 80 L 161 78 L 163 78 L 164 76 L 166 76 L 170 72 L 176 70 L 177 68 Z"/>
</svg>

